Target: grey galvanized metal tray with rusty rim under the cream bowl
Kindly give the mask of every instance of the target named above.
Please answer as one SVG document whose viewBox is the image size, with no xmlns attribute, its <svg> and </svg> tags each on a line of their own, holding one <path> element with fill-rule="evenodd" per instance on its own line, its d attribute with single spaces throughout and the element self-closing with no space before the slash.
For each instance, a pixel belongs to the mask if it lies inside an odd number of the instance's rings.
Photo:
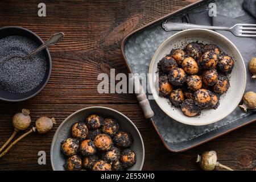
<svg viewBox="0 0 256 182">
<path fill-rule="evenodd" d="M 222 15 L 232 16 L 233 18 L 243 15 L 243 0 L 205 0 L 192 3 L 183 9 L 155 20 L 154 22 L 147 24 L 138 30 L 131 32 L 125 37 L 125 39 L 123 39 L 121 52 L 129 72 L 139 74 L 147 73 L 148 66 L 156 49 L 164 40 L 177 32 L 164 31 L 162 28 L 162 23 L 165 20 L 171 19 L 181 21 L 181 17 L 183 17 L 188 12 L 195 13 L 197 11 L 207 9 L 210 2 L 217 4 L 218 12 L 225 13 Z M 236 11 L 232 12 L 234 9 L 236 9 Z M 253 55 L 247 56 L 251 57 Z M 247 62 L 248 61 L 249 60 L 247 60 Z M 247 64 L 247 62 L 245 64 Z M 249 77 L 249 75 L 247 76 Z M 246 90 L 255 88 L 255 84 L 253 85 L 253 82 L 249 80 L 250 79 L 247 79 L 246 82 Z M 154 100 L 150 100 L 150 105 L 155 113 L 154 117 L 151 119 L 152 125 L 154 125 L 155 130 L 159 134 L 159 137 L 162 139 L 164 146 L 166 146 L 167 149 L 172 152 L 188 150 L 189 148 L 208 142 L 209 140 L 220 137 L 221 135 L 256 121 L 255 111 L 243 113 L 237 107 L 237 109 L 234 110 L 233 113 L 228 117 L 211 125 L 189 126 L 179 123 L 168 117 L 163 113 L 163 111 L 159 108 Z"/>
</svg>

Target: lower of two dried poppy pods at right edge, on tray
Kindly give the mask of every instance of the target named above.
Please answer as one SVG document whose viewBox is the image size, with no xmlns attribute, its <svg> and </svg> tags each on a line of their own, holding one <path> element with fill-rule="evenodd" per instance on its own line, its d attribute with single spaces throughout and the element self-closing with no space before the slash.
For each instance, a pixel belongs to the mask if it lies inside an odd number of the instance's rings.
<svg viewBox="0 0 256 182">
<path fill-rule="evenodd" d="M 256 109 L 256 93 L 247 92 L 243 95 L 243 104 L 240 105 L 243 111 L 247 111 L 247 109 Z"/>
</svg>

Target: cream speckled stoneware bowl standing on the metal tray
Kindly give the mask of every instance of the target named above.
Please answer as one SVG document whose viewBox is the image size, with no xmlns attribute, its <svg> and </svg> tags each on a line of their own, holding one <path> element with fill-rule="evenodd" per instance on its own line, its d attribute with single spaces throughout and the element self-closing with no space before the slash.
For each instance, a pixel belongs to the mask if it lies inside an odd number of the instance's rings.
<svg viewBox="0 0 256 182">
<path fill-rule="evenodd" d="M 157 92 L 158 80 L 156 77 L 157 64 L 164 56 L 170 53 L 173 48 L 184 47 L 189 42 L 201 42 L 216 44 L 221 51 L 224 51 L 229 56 L 233 57 L 234 68 L 230 74 L 230 88 L 228 92 L 220 97 L 220 106 L 216 110 L 205 109 L 198 117 L 187 117 L 181 109 L 170 106 L 170 101 L 167 98 L 159 97 Z M 204 29 L 191 29 L 180 31 L 177 34 L 172 35 L 170 38 L 165 40 L 159 48 L 156 50 L 152 57 L 149 73 L 153 73 L 149 77 L 150 89 L 154 96 L 156 103 L 159 107 L 169 115 L 171 118 L 187 125 L 208 125 L 220 121 L 222 118 L 228 116 L 237 107 L 242 99 L 243 92 L 245 91 L 246 85 L 246 68 L 243 63 L 241 53 L 238 51 L 236 46 L 225 36 L 218 34 L 217 32 Z"/>
</svg>

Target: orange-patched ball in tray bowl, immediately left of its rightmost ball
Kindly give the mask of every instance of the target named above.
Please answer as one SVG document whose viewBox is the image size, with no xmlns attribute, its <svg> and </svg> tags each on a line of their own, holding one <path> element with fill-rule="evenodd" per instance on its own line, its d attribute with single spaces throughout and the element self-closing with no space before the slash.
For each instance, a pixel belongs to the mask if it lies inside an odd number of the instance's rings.
<svg viewBox="0 0 256 182">
<path fill-rule="evenodd" d="M 217 63 L 218 56 L 212 51 L 205 52 L 200 58 L 200 65 L 204 69 L 216 68 Z"/>
</svg>

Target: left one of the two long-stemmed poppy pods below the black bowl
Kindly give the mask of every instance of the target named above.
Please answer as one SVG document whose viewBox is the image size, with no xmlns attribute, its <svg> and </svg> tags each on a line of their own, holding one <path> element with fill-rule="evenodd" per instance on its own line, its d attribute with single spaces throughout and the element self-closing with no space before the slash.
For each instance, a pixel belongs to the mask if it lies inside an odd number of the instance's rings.
<svg viewBox="0 0 256 182">
<path fill-rule="evenodd" d="M 0 148 L 0 152 L 11 142 L 11 140 L 15 137 L 15 135 L 20 130 L 26 130 L 31 124 L 31 118 L 30 118 L 30 110 L 28 109 L 22 109 L 21 113 L 17 113 L 13 117 L 13 126 L 14 126 L 14 132 L 11 135 L 11 137 L 3 144 L 3 146 Z"/>
</svg>

